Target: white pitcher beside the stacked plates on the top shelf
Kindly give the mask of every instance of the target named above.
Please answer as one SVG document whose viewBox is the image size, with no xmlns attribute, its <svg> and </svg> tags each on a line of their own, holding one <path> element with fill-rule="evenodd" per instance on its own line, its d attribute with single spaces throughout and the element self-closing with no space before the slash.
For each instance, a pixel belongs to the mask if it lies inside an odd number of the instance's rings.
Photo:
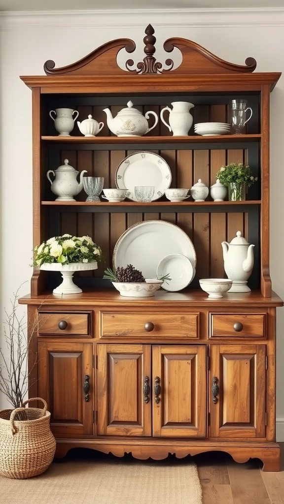
<svg viewBox="0 0 284 504">
<path fill-rule="evenodd" d="M 170 107 L 162 108 L 160 113 L 161 121 L 173 133 L 174 137 L 187 137 L 193 123 L 190 110 L 194 105 L 187 101 L 173 101 L 171 105 L 172 109 Z M 169 124 L 164 119 L 166 110 L 169 111 Z"/>
</svg>

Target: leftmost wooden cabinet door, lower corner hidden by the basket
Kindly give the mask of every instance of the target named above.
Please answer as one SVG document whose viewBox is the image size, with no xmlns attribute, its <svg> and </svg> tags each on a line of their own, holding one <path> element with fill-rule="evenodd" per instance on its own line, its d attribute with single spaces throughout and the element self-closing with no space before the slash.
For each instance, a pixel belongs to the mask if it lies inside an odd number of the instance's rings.
<svg viewBox="0 0 284 504">
<path fill-rule="evenodd" d="M 38 394 L 48 403 L 55 437 L 92 434 L 92 344 L 38 342 Z"/>
</svg>

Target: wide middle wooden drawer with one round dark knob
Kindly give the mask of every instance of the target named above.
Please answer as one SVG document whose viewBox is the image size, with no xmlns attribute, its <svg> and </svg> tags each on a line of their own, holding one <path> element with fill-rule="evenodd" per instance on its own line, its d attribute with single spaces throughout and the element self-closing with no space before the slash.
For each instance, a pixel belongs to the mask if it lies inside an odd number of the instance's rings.
<svg viewBox="0 0 284 504">
<path fill-rule="evenodd" d="M 199 338 L 199 313 L 101 313 L 101 338 Z"/>
</svg>

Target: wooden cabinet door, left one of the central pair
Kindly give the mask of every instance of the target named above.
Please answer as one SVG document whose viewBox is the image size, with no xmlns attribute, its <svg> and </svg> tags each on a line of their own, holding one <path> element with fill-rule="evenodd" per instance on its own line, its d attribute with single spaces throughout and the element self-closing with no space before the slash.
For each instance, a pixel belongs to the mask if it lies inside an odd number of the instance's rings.
<svg viewBox="0 0 284 504">
<path fill-rule="evenodd" d="M 150 345 L 98 345 L 98 434 L 150 436 Z"/>
</svg>

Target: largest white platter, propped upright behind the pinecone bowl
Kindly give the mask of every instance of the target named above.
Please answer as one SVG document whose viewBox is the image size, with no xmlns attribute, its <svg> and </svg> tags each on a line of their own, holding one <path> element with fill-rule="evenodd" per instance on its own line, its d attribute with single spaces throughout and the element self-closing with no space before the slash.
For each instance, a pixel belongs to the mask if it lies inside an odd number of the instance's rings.
<svg viewBox="0 0 284 504">
<path fill-rule="evenodd" d="M 196 269 L 193 242 L 182 229 L 162 220 L 138 222 L 117 240 L 113 267 L 132 264 L 145 278 L 156 278 L 158 264 L 170 254 L 187 257 Z"/>
</svg>

